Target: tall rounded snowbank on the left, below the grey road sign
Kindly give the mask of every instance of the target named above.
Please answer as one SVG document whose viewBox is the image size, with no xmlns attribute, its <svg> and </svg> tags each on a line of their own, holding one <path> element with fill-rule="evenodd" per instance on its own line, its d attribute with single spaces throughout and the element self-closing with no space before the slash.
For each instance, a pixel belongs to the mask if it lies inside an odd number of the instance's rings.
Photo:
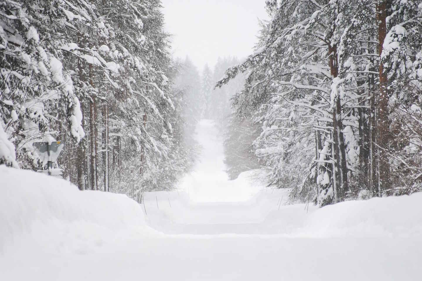
<svg viewBox="0 0 422 281">
<path fill-rule="evenodd" d="M 0 190 L 0 253 L 23 244 L 83 250 L 149 231 L 143 209 L 126 195 L 80 191 L 63 179 L 4 165 Z"/>
</svg>

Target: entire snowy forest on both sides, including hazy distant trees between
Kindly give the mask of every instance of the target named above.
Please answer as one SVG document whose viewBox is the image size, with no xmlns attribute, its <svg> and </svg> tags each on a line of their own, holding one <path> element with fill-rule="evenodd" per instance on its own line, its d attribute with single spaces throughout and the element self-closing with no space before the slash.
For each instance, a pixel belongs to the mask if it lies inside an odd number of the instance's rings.
<svg viewBox="0 0 422 281">
<path fill-rule="evenodd" d="M 202 70 L 160 8 L 1 1 L 0 163 L 42 170 L 34 142 L 61 141 L 65 179 L 140 202 L 192 169 L 206 118 L 230 179 L 260 169 L 292 202 L 422 191 L 422 3 L 267 0 L 251 54 Z"/>
</svg>

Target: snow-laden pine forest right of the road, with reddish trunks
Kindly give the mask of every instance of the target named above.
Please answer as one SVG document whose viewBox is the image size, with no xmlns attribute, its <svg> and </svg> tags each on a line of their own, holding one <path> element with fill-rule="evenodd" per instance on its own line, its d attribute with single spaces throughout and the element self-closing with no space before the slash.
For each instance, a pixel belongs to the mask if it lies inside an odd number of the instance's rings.
<svg viewBox="0 0 422 281">
<path fill-rule="evenodd" d="M 422 3 L 266 4 L 254 53 L 217 86 L 245 75 L 234 122 L 271 184 L 318 206 L 421 191 Z"/>
</svg>

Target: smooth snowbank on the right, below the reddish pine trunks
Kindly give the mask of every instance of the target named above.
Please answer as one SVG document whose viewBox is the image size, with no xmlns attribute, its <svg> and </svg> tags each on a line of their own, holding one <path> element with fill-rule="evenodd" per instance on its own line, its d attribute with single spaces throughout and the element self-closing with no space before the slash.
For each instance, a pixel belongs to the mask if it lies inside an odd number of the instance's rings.
<svg viewBox="0 0 422 281">
<path fill-rule="evenodd" d="M 422 193 L 346 201 L 311 212 L 293 235 L 304 237 L 422 237 Z"/>
</svg>

